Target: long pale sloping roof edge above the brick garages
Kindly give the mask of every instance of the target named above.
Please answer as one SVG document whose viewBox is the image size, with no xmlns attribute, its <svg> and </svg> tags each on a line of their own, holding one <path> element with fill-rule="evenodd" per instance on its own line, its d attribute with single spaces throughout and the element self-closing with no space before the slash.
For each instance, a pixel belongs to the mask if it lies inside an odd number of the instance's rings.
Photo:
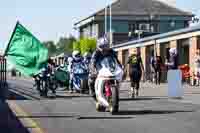
<svg viewBox="0 0 200 133">
<path fill-rule="evenodd" d="M 171 32 L 167 32 L 167 33 L 163 33 L 163 34 L 159 34 L 159 35 L 155 35 L 155 36 L 151 36 L 151 37 L 146 37 L 146 38 L 142 38 L 142 39 L 139 39 L 139 40 L 129 41 L 129 42 L 126 42 L 126 43 L 115 45 L 112 48 L 125 47 L 125 46 L 129 46 L 129 45 L 133 45 L 133 44 L 139 44 L 139 43 L 142 43 L 142 42 L 162 39 L 162 38 L 166 38 L 166 37 L 171 37 L 171 36 L 185 34 L 185 33 L 189 33 L 189 32 L 195 32 L 195 31 L 200 31 L 200 25 L 192 26 L 192 27 L 189 27 L 189 28 L 184 28 L 184 29 L 180 29 L 180 30 L 176 30 L 176 31 L 171 31 Z"/>
</svg>

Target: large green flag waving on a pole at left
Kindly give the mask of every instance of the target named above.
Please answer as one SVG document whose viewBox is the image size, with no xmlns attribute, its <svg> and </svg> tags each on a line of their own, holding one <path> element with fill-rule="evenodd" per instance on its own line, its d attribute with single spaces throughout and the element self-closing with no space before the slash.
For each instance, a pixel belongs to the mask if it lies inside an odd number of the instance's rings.
<svg viewBox="0 0 200 133">
<path fill-rule="evenodd" d="M 7 59 L 26 76 L 38 74 L 46 64 L 48 50 L 25 27 L 17 22 L 5 51 Z"/>
</svg>

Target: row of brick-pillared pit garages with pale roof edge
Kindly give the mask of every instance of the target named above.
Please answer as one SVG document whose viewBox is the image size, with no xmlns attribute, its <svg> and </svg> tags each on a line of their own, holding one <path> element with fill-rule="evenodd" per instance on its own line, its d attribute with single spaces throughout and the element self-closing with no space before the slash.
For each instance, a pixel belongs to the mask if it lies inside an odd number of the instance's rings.
<svg viewBox="0 0 200 133">
<path fill-rule="evenodd" d="M 200 25 L 129 41 L 113 48 L 118 52 L 118 58 L 122 64 L 127 61 L 133 49 L 139 49 L 147 73 L 146 78 L 149 79 L 151 52 L 156 52 L 165 61 L 168 50 L 173 47 L 178 50 L 179 65 L 189 64 L 193 71 L 194 56 L 197 49 L 200 49 Z M 163 76 L 163 79 L 166 79 L 166 75 Z"/>
</svg>

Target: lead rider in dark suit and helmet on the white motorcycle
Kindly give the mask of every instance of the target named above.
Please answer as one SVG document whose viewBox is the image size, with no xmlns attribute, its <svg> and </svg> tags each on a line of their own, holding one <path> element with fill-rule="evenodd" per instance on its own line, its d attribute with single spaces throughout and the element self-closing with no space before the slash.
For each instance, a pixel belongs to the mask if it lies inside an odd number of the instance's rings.
<svg viewBox="0 0 200 133">
<path fill-rule="evenodd" d="M 96 95 L 95 95 L 95 81 L 97 78 L 97 68 L 100 66 L 100 62 L 103 60 L 104 57 L 112 56 L 115 58 L 118 62 L 118 64 L 121 66 L 121 63 L 119 62 L 116 52 L 109 48 L 109 42 L 108 40 L 103 37 L 98 39 L 97 41 L 97 49 L 92 54 L 90 66 L 89 66 L 89 79 L 88 79 L 88 85 L 89 89 L 92 93 L 92 97 L 96 101 Z"/>
</svg>

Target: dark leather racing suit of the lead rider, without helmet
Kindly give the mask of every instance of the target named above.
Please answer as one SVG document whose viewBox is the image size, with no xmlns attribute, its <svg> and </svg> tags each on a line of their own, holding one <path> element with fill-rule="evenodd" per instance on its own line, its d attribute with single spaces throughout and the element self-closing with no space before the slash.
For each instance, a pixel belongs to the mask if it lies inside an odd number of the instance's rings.
<svg viewBox="0 0 200 133">
<path fill-rule="evenodd" d="M 96 50 L 91 58 L 91 62 L 89 65 L 89 79 L 88 79 L 88 85 L 89 85 L 89 89 L 92 93 L 92 97 L 96 100 L 96 96 L 95 96 L 95 80 L 97 78 L 97 66 L 99 65 L 99 63 L 101 62 L 101 60 L 103 60 L 104 57 L 107 56 L 112 56 L 113 58 L 115 58 L 117 60 L 117 62 L 120 64 L 118 58 L 117 58 L 117 54 L 113 49 L 106 49 L 103 52 L 101 52 L 100 50 Z"/>
</svg>

